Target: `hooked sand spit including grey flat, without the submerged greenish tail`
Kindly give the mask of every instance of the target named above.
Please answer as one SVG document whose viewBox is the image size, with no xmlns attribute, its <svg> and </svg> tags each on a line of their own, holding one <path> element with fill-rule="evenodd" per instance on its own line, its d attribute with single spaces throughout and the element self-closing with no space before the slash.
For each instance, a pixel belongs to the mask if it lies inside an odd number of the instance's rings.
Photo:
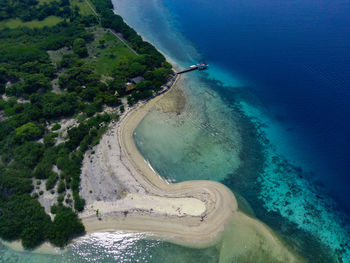
<svg viewBox="0 0 350 263">
<path fill-rule="evenodd" d="M 80 218 L 88 233 L 146 232 L 205 247 L 219 239 L 237 211 L 237 202 L 227 187 L 216 182 L 169 184 L 144 160 L 133 133 L 163 96 L 127 111 L 101 139 L 94 156 L 84 159 L 81 194 L 87 206 Z M 179 114 L 178 106 L 174 111 Z"/>
</svg>

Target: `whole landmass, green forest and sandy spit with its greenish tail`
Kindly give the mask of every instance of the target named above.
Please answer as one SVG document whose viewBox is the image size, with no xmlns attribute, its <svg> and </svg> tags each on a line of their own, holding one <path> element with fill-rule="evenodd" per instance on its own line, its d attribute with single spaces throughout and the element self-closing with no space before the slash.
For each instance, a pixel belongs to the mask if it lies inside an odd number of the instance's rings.
<svg viewBox="0 0 350 263">
<path fill-rule="evenodd" d="M 134 130 L 159 105 L 181 114 L 180 75 L 110 0 L 1 8 L 0 237 L 17 241 L 6 244 L 125 230 L 208 247 L 229 227 L 273 259 L 301 261 L 226 186 L 169 183 L 143 158 Z"/>
</svg>

